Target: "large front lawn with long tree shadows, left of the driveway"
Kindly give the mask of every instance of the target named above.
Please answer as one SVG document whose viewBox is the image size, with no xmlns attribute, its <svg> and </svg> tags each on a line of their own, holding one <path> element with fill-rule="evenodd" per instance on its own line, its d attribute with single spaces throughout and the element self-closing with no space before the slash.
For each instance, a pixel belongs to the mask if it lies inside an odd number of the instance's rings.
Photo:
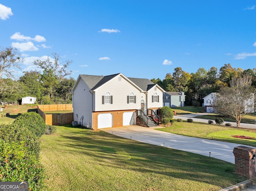
<svg viewBox="0 0 256 191">
<path fill-rule="evenodd" d="M 48 191 L 217 191 L 246 180 L 232 163 L 72 126 L 43 135 L 40 157 Z"/>
</svg>

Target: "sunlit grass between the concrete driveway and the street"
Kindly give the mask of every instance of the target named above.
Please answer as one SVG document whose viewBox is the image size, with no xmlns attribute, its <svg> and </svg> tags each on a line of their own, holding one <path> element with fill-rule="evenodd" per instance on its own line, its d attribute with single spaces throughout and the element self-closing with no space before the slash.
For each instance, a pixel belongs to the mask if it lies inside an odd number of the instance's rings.
<svg viewBox="0 0 256 191">
<path fill-rule="evenodd" d="M 256 137 L 256 130 L 254 129 L 240 129 L 235 127 L 227 127 L 216 124 L 205 124 L 200 122 L 188 123 L 175 121 L 172 126 L 167 126 L 166 128 L 159 128 L 158 130 L 190 137 L 214 139 L 224 142 L 245 144 L 254 147 L 256 146 L 256 140 L 232 137 L 232 135 L 245 135 Z"/>
</svg>

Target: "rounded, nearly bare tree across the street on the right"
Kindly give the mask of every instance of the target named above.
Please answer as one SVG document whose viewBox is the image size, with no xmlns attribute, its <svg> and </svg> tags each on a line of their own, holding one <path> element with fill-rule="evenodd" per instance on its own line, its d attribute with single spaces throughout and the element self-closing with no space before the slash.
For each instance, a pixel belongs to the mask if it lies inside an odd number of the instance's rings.
<svg viewBox="0 0 256 191">
<path fill-rule="evenodd" d="M 254 111 L 254 94 L 250 77 L 234 77 L 230 87 L 222 87 L 213 97 L 212 106 L 216 112 L 224 116 L 236 118 L 236 126 L 240 127 L 242 117 Z"/>
</svg>

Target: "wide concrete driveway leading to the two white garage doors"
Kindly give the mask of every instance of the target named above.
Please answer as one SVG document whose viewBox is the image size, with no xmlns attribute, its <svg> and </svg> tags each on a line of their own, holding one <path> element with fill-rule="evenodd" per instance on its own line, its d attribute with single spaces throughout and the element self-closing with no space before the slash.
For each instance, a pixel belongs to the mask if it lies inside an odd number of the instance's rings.
<svg viewBox="0 0 256 191">
<path fill-rule="evenodd" d="M 193 119 L 194 120 L 194 119 Z M 156 128 L 161 128 L 156 127 Z M 196 153 L 235 163 L 233 149 L 241 144 L 187 137 L 142 126 L 102 128 L 105 132 L 152 145 Z M 245 146 L 245 145 L 243 145 Z"/>
</svg>

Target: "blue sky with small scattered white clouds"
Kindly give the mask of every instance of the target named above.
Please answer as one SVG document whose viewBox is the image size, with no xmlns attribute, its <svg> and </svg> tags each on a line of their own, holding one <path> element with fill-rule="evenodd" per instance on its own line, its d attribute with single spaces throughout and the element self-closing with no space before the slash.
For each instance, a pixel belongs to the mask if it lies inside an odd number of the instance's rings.
<svg viewBox="0 0 256 191">
<path fill-rule="evenodd" d="M 256 67 L 254 0 L 1 0 L 0 47 L 22 71 L 58 53 L 79 74 L 160 78 L 181 67 Z"/>
</svg>

